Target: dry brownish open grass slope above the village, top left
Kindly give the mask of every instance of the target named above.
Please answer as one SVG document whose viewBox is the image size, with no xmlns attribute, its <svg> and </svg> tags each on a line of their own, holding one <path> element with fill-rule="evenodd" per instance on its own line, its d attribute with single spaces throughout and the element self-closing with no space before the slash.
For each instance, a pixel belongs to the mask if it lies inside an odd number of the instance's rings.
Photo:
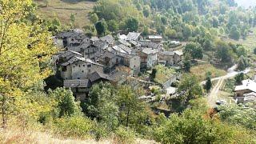
<svg viewBox="0 0 256 144">
<path fill-rule="evenodd" d="M 75 14 L 75 25 L 82 28 L 88 25 L 88 14 L 93 9 L 95 2 L 65 2 L 61 0 L 50 0 L 46 7 L 46 2 L 43 0 L 35 0 L 38 3 L 38 14 L 42 18 L 57 18 L 63 24 L 70 24 L 70 14 Z"/>
</svg>

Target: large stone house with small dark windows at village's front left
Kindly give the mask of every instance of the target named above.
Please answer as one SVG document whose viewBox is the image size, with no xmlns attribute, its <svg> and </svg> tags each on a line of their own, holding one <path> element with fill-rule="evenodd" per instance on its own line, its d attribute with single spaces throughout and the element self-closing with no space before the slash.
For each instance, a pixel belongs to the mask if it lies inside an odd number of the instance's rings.
<svg viewBox="0 0 256 144">
<path fill-rule="evenodd" d="M 89 58 L 74 56 L 69 61 L 61 64 L 61 76 L 63 79 L 86 79 L 88 74 L 98 71 L 103 73 L 104 66 L 93 62 Z"/>
</svg>

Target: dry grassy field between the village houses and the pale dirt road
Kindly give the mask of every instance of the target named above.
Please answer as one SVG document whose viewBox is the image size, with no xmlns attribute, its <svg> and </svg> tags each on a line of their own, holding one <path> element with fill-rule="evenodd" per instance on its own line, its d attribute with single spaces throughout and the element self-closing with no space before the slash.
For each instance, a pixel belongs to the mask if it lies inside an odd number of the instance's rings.
<svg viewBox="0 0 256 144">
<path fill-rule="evenodd" d="M 226 74 L 225 70 L 217 69 L 210 64 L 202 64 L 202 65 L 198 65 L 198 66 L 193 66 L 190 69 L 190 72 L 191 72 L 191 74 L 196 75 L 200 82 L 206 80 L 207 72 L 211 73 L 212 78 L 217 78 L 217 77 L 220 77 L 220 76 L 223 76 Z"/>
</svg>

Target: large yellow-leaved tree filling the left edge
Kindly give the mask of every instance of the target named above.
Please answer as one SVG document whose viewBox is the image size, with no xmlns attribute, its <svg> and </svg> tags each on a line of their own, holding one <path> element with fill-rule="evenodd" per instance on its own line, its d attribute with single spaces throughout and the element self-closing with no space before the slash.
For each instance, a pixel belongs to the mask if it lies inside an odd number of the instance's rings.
<svg viewBox="0 0 256 144">
<path fill-rule="evenodd" d="M 51 74 L 46 63 L 56 53 L 46 29 L 38 22 L 33 25 L 22 22 L 22 18 L 29 14 L 26 7 L 31 4 L 30 0 L 0 2 L 0 108 L 3 127 L 6 127 L 10 114 L 30 114 L 30 109 L 25 109 L 26 95 L 35 83 Z"/>
</svg>

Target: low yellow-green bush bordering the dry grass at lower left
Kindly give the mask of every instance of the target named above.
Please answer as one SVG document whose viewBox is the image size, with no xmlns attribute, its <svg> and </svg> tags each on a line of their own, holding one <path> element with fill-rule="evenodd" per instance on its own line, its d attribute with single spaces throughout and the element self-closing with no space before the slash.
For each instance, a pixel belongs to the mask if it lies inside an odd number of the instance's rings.
<svg viewBox="0 0 256 144">
<path fill-rule="evenodd" d="M 82 116 L 58 118 L 55 121 L 55 133 L 64 137 L 88 138 L 94 123 Z"/>
</svg>

